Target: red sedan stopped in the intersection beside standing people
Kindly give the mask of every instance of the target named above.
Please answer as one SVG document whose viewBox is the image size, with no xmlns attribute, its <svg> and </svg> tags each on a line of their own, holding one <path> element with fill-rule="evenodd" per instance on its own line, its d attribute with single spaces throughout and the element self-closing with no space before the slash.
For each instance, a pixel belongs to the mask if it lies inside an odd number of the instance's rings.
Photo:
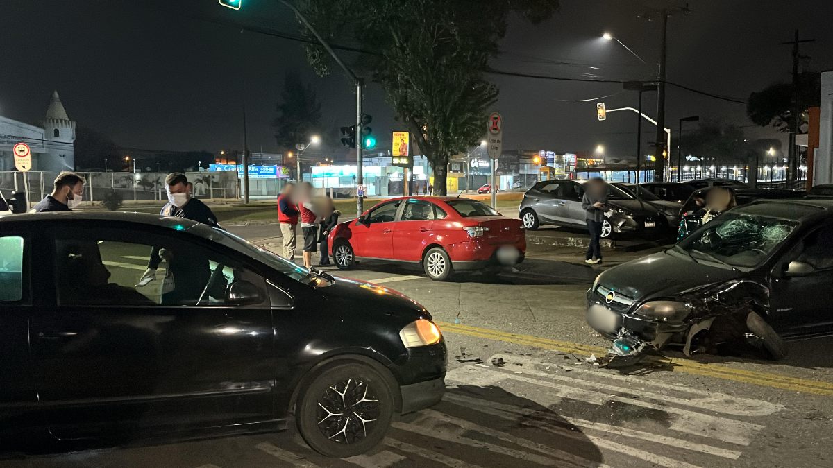
<svg viewBox="0 0 833 468">
<path fill-rule="evenodd" d="M 460 270 L 523 261 L 521 221 L 468 198 L 400 197 L 381 202 L 330 233 L 330 253 L 348 270 L 357 259 L 420 264 L 435 281 Z"/>
</svg>

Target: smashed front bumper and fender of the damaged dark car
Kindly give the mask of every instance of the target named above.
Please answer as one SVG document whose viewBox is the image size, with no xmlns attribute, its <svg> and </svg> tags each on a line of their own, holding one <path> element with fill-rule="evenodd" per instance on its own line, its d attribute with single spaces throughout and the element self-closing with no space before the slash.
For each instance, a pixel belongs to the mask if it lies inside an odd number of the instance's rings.
<svg viewBox="0 0 833 468">
<path fill-rule="evenodd" d="M 732 280 L 682 291 L 675 297 L 636 301 L 612 287 L 587 291 L 587 323 L 612 341 L 608 361 L 636 363 L 665 346 L 686 356 L 745 336 L 750 311 L 766 310 L 769 290 L 755 281 Z M 701 333 L 706 331 L 706 333 Z"/>
</svg>

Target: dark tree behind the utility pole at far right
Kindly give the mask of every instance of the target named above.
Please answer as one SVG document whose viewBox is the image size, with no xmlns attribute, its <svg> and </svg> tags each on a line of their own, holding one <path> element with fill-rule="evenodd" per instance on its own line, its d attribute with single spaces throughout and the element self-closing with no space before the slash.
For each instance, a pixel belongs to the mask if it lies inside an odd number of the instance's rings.
<svg viewBox="0 0 833 468">
<path fill-rule="evenodd" d="M 798 77 L 798 103 L 801 108 L 799 126 L 807 123 L 808 107 L 821 102 L 821 73 L 803 72 Z M 753 92 L 746 104 L 746 115 L 756 125 L 771 125 L 779 132 L 789 132 L 792 125 L 792 83 L 777 82 L 759 92 Z"/>
</svg>

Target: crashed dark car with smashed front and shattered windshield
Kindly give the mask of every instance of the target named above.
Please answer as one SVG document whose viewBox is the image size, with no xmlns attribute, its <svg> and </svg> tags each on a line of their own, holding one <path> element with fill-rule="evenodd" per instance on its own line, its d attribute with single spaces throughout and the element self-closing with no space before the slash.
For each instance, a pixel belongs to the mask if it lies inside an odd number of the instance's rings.
<svg viewBox="0 0 833 468">
<path fill-rule="evenodd" d="M 833 200 L 753 202 L 670 249 L 601 273 L 587 323 L 613 341 L 609 363 L 676 346 L 686 354 L 833 335 Z"/>
</svg>

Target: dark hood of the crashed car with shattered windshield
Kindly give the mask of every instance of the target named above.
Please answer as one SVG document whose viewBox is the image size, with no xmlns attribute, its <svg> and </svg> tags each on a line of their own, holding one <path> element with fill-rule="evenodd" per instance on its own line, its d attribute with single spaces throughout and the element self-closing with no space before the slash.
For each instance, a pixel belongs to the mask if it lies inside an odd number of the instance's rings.
<svg viewBox="0 0 833 468">
<path fill-rule="evenodd" d="M 601 273 L 597 281 L 601 286 L 642 301 L 651 297 L 678 296 L 686 291 L 736 279 L 742 274 L 661 251 L 614 266 Z"/>
</svg>

